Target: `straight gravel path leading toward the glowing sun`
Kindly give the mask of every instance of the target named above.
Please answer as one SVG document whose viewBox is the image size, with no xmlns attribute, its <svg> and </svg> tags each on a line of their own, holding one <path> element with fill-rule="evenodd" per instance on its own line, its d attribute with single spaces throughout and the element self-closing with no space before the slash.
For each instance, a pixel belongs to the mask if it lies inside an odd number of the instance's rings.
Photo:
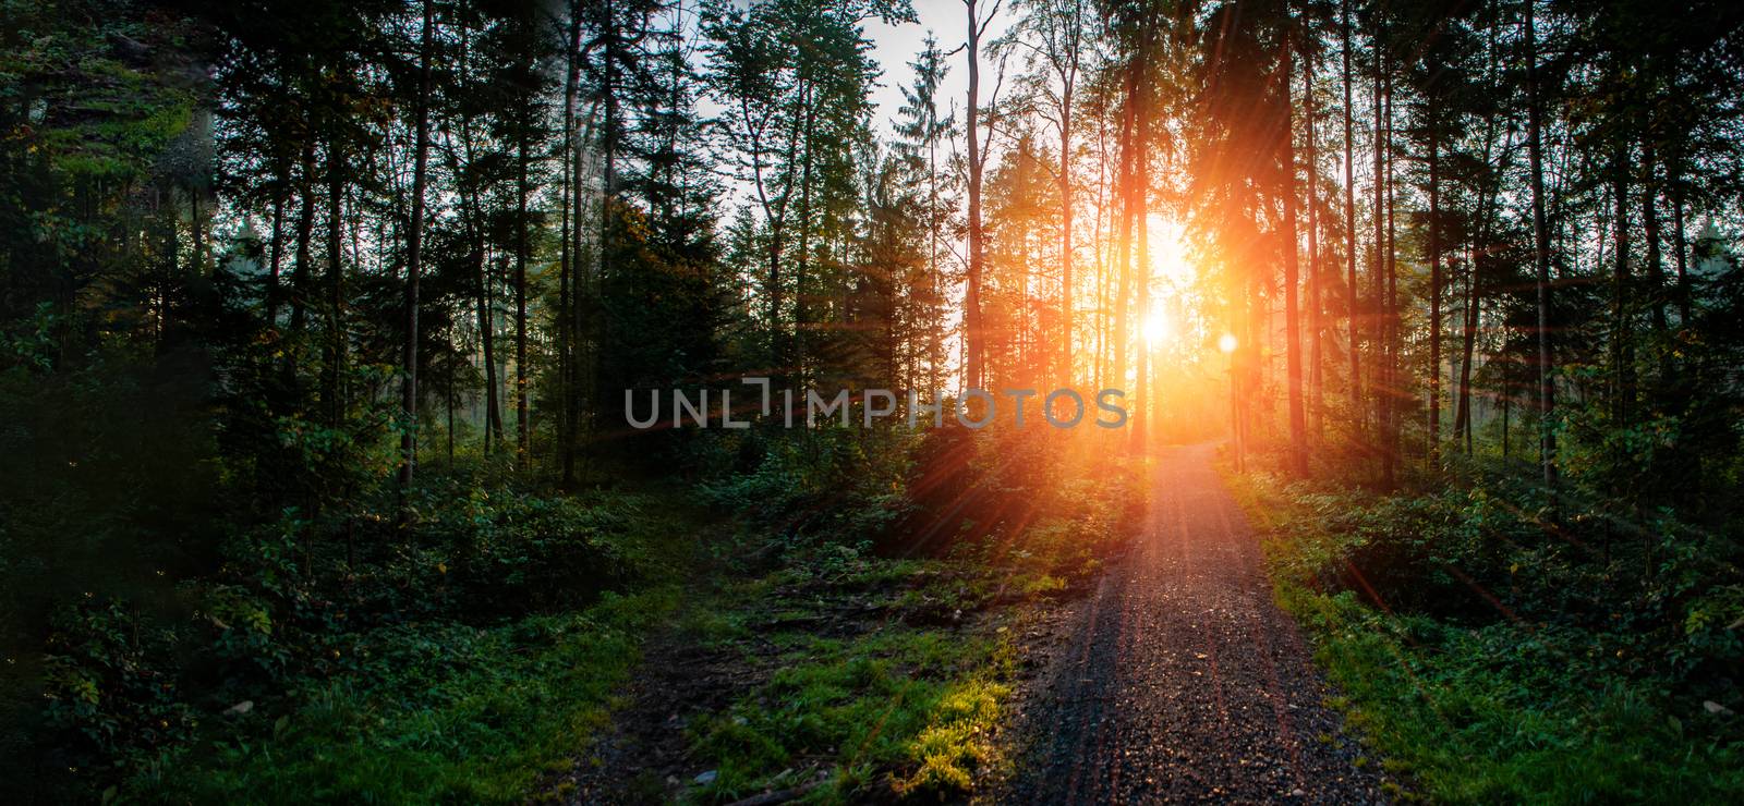
<svg viewBox="0 0 1744 806">
<path fill-rule="evenodd" d="M 999 801 L 1383 801 L 1210 461 L 1160 457 L 1141 544 L 1066 616 L 1024 700 Z"/>
</svg>

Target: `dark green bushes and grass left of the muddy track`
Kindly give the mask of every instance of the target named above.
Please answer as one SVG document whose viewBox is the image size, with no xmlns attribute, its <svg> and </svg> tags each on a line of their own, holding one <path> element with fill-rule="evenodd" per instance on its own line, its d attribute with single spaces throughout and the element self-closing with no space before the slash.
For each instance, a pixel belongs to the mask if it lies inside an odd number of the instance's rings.
<svg viewBox="0 0 1744 806">
<path fill-rule="evenodd" d="M 173 607 L 61 607 L 40 684 L 47 757 L 73 787 L 195 801 L 525 794 L 671 607 L 657 583 L 685 530 L 631 494 L 438 485 L 420 501 L 403 530 L 288 509 Z M 610 593 L 628 584 L 651 593 Z M 270 734 L 262 714 L 283 717 Z"/>
</svg>

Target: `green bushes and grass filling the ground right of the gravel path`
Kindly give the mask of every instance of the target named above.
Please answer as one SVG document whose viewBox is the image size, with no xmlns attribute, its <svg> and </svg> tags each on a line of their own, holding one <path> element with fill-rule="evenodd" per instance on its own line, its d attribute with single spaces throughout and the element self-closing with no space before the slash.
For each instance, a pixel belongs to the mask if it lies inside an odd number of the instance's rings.
<svg viewBox="0 0 1744 806">
<path fill-rule="evenodd" d="M 1451 803 L 1744 797 L 1744 576 L 1721 534 L 1472 471 L 1378 495 L 1235 478 L 1353 722 Z"/>
</svg>

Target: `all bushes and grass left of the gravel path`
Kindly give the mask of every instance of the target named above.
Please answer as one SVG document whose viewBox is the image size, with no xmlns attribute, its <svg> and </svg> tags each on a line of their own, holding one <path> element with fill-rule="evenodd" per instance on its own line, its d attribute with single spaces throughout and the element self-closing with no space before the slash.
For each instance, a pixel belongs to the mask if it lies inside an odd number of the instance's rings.
<svg viewBox="0 0 1744 806">
<path fill-rule="evenodd" d="M 971 790 L 999 764 L 1012 605 L 1069 593 L 1120 550 L 1137 464 L 1038 431 L 764 440 L 750 468 L 708 468 L 743 447 L 692 445 L 694 487 L 581 494 L 473 457 L 405 502 L 239 527 L 211 572 L 160 591 L 65 600 L 40 703 L 10 703 L 31 736 L 9 759 L 19 792 L 562 796 L 549 782 L 663 633 L 760 670 L 685 731 L 717 775 L 668 796 Z"/>
</svg>

